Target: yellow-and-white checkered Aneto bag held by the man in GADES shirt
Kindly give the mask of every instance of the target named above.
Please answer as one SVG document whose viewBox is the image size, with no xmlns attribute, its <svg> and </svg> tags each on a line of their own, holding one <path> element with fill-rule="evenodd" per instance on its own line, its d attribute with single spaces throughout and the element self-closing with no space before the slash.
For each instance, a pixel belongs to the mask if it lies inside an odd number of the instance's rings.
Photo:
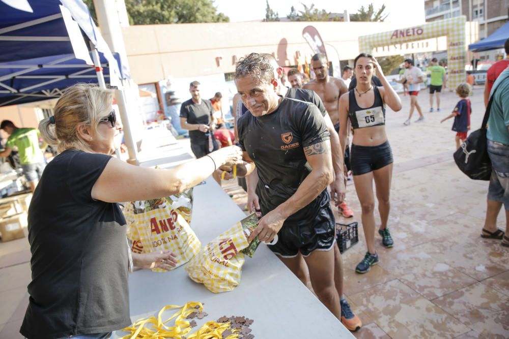
<svg viewBox="0 0 509 339">
<path fill-rule="evenodd" d="M 189 278 L 214 293 L 232 291 L 240 283 L 244 254 L 249 245 L 238 222 L 209 242 L 186 265 Z"/>
</svg>

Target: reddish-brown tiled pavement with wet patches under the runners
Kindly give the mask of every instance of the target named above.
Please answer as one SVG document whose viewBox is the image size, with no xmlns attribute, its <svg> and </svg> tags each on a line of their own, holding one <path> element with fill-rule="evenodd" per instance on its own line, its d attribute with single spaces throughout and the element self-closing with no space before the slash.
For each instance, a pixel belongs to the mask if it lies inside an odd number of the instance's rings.
<svg viewBox="0 0 509 339">
<path fill-rule="evenodd" d="M 471 98 L 474 129 L 484 114 L 481 94 L 478 87 Z M 457 100 L 442 94 L 442 112 L 425 113 L 425 122 L 409 127 L 403 126 L 407 96 L 400 112 L 387 111 L 394 153 L 389 228 L 395 245 L 385 249 L 377 242 L 380 263 L 366 274 L 354 271 L 366 249 L 349 181 L 355 217 L 337 221 L 359 222 L 359 243 L 343 255 L 345 294 L 364 322 L 358 338 L 509 338 L 509 249 L 479 237 L 488 183 L 459 172 L 452 160 L 452 120 L 440 124 Z M 419 102 L 427 112 L 424 91 Z M 243 191 L 233 182 L 223 187 L 243 209 Z M 505 228 L 503 215 L 498 225 Z M 29 260 L 26 238 L 0 243 L 0 339 L 21 337 Z"/>
</svg>

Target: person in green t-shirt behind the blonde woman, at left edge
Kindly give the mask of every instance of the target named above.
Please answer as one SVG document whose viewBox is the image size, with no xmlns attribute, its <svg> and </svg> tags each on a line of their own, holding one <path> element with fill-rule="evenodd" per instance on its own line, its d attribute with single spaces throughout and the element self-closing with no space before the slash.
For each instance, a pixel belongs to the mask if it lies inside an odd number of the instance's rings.
<svg viewBox="0 0 509 339">
<path fill-rule="evenodd" d="M 30 190 L 34 192 L 46 166 L 42 149 L 39 146 L 39 131 L 34 128 L 18 128 L 10 120 L 2 121 L 0 129 L 9 134 L 5 150 L 0 152 L 0 157 L 8 157 L 14 147 L 18 149 L 23 174 Z"/>
</svg>

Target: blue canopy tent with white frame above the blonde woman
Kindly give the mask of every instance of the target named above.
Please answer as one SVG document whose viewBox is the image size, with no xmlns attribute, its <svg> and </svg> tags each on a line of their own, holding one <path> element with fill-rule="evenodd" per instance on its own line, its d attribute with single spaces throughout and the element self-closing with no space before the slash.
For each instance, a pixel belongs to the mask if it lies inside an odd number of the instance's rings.
<svg viewBox="0 0 509 339">
<path fill-rule="evenodd" d="M 104 86 L 106 70 L 109 83 L 119 88 L 129 158 L 137 163 L 123 91 L 129 71 L 120 71 L 120 57 L 111 53 L 82 0 L 0 0 L 0 50 L 3 105 L 58 97 L 76 82 Z"/>
</svg>

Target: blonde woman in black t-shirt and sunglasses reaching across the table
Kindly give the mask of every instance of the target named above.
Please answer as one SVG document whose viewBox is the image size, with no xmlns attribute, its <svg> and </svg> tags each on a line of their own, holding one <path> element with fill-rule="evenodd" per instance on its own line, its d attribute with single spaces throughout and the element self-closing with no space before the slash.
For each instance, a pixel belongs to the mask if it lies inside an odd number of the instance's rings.
<svg viewBox="0 0 509 339">
<path fill-rule="evenodd" d="M 60 154 L 46 167 L 29 208 L 30 300 L 20 332 L 27 338 L 89 334 L 109 338 L 131 324 L 128 267 L 168 268 L 171 253 L 132 254 L 117 202 L 174 195 L 218 166 L 240 161 L 224 147 L 171 170 L 129 165 L 111 157 L 122 125 L 110 90 L 78 84 L 62 95 L 42 137 Z"/>
</svg>

